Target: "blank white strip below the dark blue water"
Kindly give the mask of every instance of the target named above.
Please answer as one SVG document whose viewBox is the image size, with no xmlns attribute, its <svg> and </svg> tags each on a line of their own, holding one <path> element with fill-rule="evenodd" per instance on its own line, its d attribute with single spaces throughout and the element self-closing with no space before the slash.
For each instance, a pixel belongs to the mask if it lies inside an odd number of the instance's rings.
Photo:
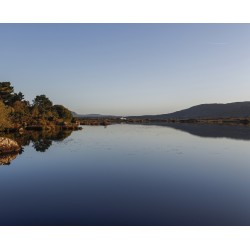
<svg viewBox="0 0 250 250">
<path fill-rule="evenodd" d="M 2 249 L 249 249 L 249 227 L 1 227 Z"/>
</svg>

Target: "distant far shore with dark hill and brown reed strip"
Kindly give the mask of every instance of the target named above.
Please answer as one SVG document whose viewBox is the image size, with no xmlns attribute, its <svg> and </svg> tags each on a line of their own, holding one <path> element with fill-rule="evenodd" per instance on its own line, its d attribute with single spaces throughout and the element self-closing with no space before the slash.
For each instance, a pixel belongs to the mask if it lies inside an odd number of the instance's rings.
<svg viewBox="0 0 250 250">
<path fill-rule="evenodd" d="M 103 116 L 74 114 L 82 125 L 109 125 L 112 123 L 199 123 L 250 125 L 250 102 L 200 104 L 188 109 L 161 115 Z"/>
</svg>

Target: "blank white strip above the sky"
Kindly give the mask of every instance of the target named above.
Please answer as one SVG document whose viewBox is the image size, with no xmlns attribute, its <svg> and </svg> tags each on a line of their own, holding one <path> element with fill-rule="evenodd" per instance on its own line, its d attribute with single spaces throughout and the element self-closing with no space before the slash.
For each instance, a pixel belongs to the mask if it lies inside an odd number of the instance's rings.
<svg viewBox="0 0 250 250">
<path fill-rule="evenodd" d="M 0 22 L 249 22 L 247 0 L 0 0 Z"/>
</svg>

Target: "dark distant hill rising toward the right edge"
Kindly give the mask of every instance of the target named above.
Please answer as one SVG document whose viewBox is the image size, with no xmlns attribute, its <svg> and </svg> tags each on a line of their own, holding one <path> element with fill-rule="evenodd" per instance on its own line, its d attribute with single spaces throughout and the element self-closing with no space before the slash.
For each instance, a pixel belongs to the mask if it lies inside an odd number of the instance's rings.
<svg viewBox="0 0 250 250">
<path fill-rule="evenodd" d="M 233 102 L 227 104 L 200 104 L 174 113 L 140 116 L 140 118 L 144 119 L 194 119 L 228 117 L 250 117 L 250 102 Z"/>
</svg>

